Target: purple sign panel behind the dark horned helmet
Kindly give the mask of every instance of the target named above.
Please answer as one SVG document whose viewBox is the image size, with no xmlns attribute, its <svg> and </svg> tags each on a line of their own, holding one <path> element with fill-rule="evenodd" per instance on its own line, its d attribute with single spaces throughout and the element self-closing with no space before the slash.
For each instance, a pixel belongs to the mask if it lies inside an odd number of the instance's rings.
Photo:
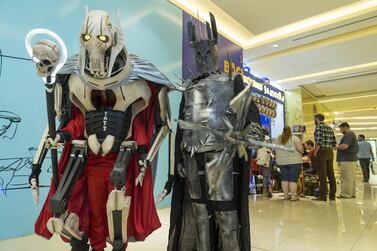
<svg viewBox="0 0 377 251">
<path fill-rule="evenodd" d="M 195 65 L 195 51 L 193 48 L 190 47 L 188 42 L 188 33 L 187 33 L 187 22 L 192 18 L 193 23 L 196 26 L 196 37 L 198 40 L 206 39 L 207 32 L 206 26 L 204 23 L 199 22 L 198 19 L 192 17 L 191 15 L 183 12 L 183 47 L 182 47 L 182 55 L 183 55 L 183 64 L 182 64 L 182 77 L 183 79 L 187 79 L 196 71 Z M 218 58 L 219 58 L 219 69 L 222 72 L 228 72 L 229 69 L 233 69 L 233 71 L 242 71 L 242 56 L 243 51 L 242 48 L 235 45 L 233 42 L 226 39 L 224 36 L 219 34 L 218 44 Z M 228 62 L 228 54 L 232 64 Z"/>
</svg>

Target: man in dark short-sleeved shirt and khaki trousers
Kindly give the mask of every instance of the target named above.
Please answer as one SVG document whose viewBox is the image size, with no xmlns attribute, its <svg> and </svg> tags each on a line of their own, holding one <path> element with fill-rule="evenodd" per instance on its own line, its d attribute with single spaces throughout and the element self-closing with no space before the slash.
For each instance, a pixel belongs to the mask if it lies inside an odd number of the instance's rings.
<svg viewBox="0 0 377 251">
<path fill-rule="evenodd" d="M 356 197 L 357 138 L 347 122 L 339 125 L 343 137 L 335 148 L 338 150 L 336 161 L 340 165 L 341 193 L 338 198 Z"/>
</svg>

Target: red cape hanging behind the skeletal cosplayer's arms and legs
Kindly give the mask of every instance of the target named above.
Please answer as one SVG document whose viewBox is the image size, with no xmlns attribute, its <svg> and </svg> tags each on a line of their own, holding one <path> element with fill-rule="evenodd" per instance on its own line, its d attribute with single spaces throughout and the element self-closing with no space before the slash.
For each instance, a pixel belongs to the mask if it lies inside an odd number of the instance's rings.
<svg viewBox="0 0 377 251">
<path fill-rule="evenodd" d="M 157 93 L 158 90 L 155 85 L 149 84 L 149 87 L 152 91 L 151 99 L 149 101 L 148 107 L 140 112 L 136 117 L 138 121 L 141 121 L 141 124 L 144 125 L 142 130 L 145 130 L 148 146 L 152 140 L 153 133 L 155 132 L 155 122 L 154 122 L 154 113 L 156 106 L 158 105 Z M 73 117 L 75 115 L 80 115 L 81 112 L 74 108 Z M 82 115 L 81 115 L 82 116 Z M 82 132 L 78 132 L 77 135 L 83 135 L 85 121 L 83 118 L 76 121 L 76 126 L 82 128 Z M 140 123 L 139 123 L 140 124 Z M 137 130 L 140 128 L 133 128 L 133 135 L 137 133 Z M 140 129 L 141 130 L 141 129 Z M 73 137 L 75 139 L 75 137 Z M 136 140 L 136 139 L 135 139 Z M 137 140 L 136 140 L 137 141 Z M 68 162 L 70 151 L 72 145 L 66 143 L 64 150 L 61 154 L 59 160 L 59 180 L 62 177 L 65 166 Z M 154 230 L 158 229 L 161 226 L 161 223 L 158 219 L 157 210 L 154 203 L 153 197 L 153 183 L 152 183 L 152 170 L 148 168 L 143 186 L 135 186 L 135 179 L 139 174 L 139 168 L 137 165 L 138 154 L 135 153 L 131 161 L 129 162 L 128 177 L 126 183 L 126 194 L 131 196 L 131 208 L 130 214 L 128 217 L 128 227 L 127 233 L 128 236 L 133 236 L 136 240 L 142 241 L 148 235 L 150 235 Z M 114 156 L 114 161 L 115 161 Z M 112 157 L 110 157 L 112 158 Z M 49 207 L 49 202 L 51 196 L 55 193 L 56 188 L 51 182 L 51 188 L 47 195 L 47 198 L 44 202 L 43 208 L 37 221 L 35 222 L 35 233 L 50 239 L 52 234 L 47 229 L 47 222 L 52 217 L 52 212 Z M 71 198 L 68 203 L 68 211 L 76 213 L 80 218 L 80 231 L 85 233 L 89 232 L 90 228 L 90 219 L 89 219 L 89 203 L 86 197 L 87 193 L 87 182 L 86 182 L 86 171 L 84 170 L 83 175 L 78 179 L 75 184 L 75 187 L 72 191 Z M 66 240 L 65 240 L 66 241 Z"/>
</svg>

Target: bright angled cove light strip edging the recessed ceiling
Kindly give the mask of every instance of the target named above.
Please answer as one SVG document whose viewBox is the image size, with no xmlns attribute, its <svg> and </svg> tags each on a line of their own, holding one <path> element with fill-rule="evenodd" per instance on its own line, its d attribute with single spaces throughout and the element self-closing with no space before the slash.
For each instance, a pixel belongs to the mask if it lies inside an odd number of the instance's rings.
<svg viewBox="0 0 377 251">
<path fill-rule="evenodd" d="M 287 37 L 319 29 L 377 10 L 377 0 L 357 1 L 255 36 L 233 17 L 209 0 L 169 1 L 194 17 L 196 17 L 198 13 L 199 18 L 202 20 L 208 21 L 208 12 L 211 11 L 216 16 L 220 33 L 244 49 L 276 43 L 276 41 Z"/>
</svg>

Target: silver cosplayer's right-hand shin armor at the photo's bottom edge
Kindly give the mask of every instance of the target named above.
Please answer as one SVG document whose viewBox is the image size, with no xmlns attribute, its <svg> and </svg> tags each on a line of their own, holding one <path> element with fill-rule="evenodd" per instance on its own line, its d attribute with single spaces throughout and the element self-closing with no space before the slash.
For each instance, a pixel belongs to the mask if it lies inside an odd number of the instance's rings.
<svg viewBox="0 0 377 251">
<path fill-rule="evenodd" d="M 220 232 L 220 250 L 240 251 L 240 227 L 237 211 L 217 211 L 215 217 Z"/>
</svg>

